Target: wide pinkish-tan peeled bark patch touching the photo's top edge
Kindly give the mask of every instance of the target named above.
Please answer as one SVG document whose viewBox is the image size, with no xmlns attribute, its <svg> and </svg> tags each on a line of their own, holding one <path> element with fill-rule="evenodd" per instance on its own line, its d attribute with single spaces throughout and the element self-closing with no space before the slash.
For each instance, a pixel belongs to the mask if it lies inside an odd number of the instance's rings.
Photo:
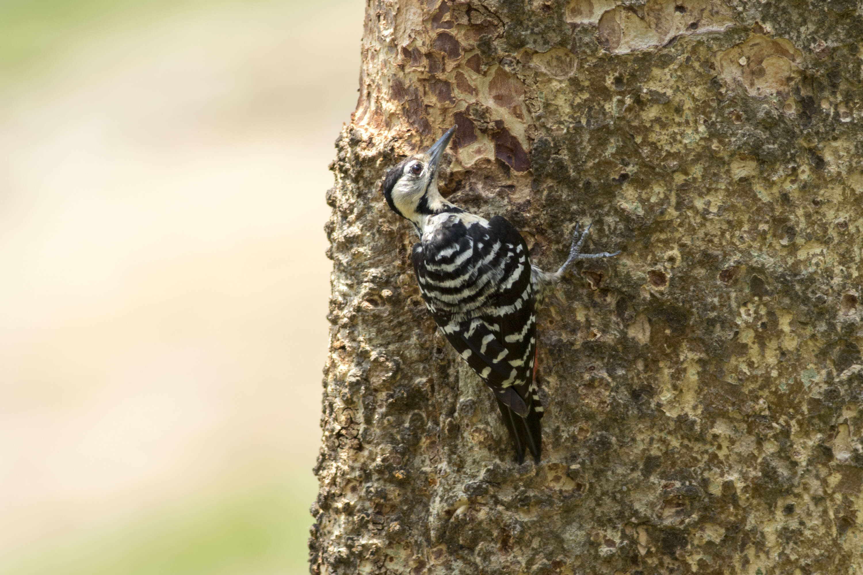
<svg viewBox="0 0 863 575">
<path fill-rule="evenodd" d="M 665 46 L 683 34 L 721 32 L 734 25 L 721 0 L 648 0 L 644 18 L 628 6 L 600 17 L 597 40 L 608 52 L 630 53 Z"/>
</svg>

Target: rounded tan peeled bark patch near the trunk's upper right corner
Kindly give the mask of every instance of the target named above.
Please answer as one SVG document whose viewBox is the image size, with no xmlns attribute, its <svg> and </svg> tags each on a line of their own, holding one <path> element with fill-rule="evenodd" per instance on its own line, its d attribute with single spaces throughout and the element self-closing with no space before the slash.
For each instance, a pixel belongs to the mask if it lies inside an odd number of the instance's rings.
<svg viewBox="0 0 863 575">
<path fill-rule="evenodd" d="M 743 84 L 753 97 L 787 95 L 803 53 L 784 38 L 753 34 L 716 54 L 715 66 L 727 84 Z"/>
</svg>

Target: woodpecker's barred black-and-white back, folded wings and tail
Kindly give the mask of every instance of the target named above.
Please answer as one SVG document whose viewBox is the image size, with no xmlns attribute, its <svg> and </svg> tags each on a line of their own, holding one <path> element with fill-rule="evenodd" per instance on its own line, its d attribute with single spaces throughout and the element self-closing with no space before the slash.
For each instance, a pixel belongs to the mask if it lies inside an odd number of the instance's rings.
<svg viewBox="0 0 863 575">
<path fill-rule="evenodd" d="M 536 309 L 527 246 L 501 216 L 439 222 L 413 248 L 419 289 L 457 353 L 494 391 L 521 462 L 539 462 L 543 415 L 533 382 Z"/>
</svg>

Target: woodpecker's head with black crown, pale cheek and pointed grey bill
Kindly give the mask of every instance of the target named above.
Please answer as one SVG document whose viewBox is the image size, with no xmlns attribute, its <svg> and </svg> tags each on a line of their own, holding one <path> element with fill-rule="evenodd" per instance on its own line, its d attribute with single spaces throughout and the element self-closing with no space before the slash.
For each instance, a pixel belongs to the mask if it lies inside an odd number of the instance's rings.
<svg viewBox="0 0 863 575">
<path fill-rule="evenodd" d="M 438 191 L 438 167 L 456 128 L 453 126 L 447 130 L 424 153 L 403 159 L 384 178 L 383 195 L 390 209 L 413 222 L 420 232 L 425 228 L 428 216 L 455 208 Z"/>
</svg>

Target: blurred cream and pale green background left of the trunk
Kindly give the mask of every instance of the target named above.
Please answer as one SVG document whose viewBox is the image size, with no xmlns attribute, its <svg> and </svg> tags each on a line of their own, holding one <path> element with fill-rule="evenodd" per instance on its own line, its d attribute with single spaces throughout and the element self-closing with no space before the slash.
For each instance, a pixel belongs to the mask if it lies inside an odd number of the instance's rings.
<svg viewBox="0 0 863 575">
<path fill-rule="evenodd" d="M 0 2 L 0 573 L 305 573 L 360 0 Z"/>
</svg>

